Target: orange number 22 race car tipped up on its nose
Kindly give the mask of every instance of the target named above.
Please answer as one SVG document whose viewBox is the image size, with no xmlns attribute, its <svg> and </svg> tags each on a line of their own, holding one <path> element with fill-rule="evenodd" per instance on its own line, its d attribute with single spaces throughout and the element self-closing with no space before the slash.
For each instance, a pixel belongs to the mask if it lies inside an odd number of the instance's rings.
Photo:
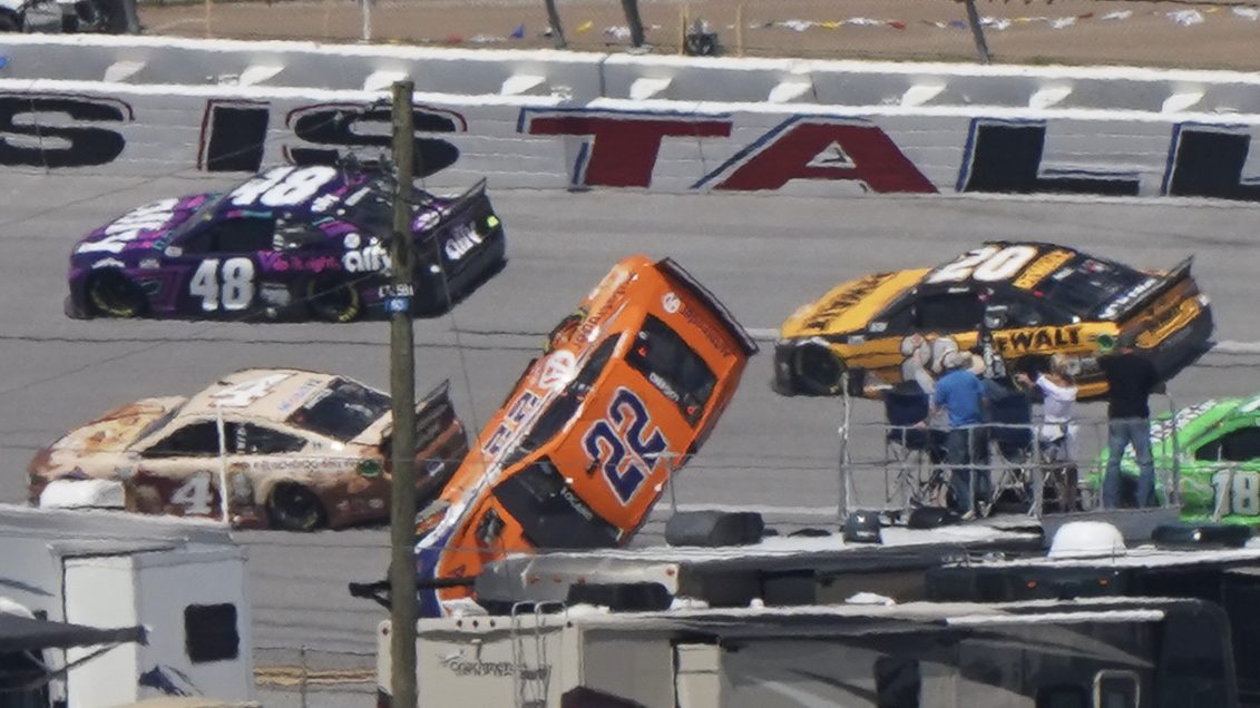
<svg viewBox="0 0 1260 708">
<path fill-rule="evenodd" d="M 418 580 L 471 578 L 512 551 L 626 543 L 699 451 L 756 350 L 673 261 L 621 261 L 552 331 L 421 511 Z M 421 608 L 440 614 L 438 592 L 422 591 Z"/>
</svg>

